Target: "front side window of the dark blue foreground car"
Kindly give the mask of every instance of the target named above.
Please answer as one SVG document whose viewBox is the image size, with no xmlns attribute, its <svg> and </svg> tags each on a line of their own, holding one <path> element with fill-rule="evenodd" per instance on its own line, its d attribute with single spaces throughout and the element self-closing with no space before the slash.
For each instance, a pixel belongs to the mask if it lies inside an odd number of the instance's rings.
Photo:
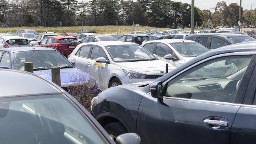
<svg viewBox="0 0 256 144">
<path fill-rule="evenodd" d="M 226 56 L 194 66 L 169 81 L 165 96 L 232 103 L 251 57 Z"/>
</svg>

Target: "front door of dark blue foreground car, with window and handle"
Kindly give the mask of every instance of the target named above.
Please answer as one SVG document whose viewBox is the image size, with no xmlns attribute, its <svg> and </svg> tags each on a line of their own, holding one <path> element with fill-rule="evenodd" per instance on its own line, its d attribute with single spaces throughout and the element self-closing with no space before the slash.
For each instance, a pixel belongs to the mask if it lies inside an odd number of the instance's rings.
<svg viewBox="0 0 256 144">
<path fill-rule="evenodd" d="M 255 60 L 249 52 L 215 55 L 166 79 L 162 98 L 145 94 L 137 116 L 141 143 L 229 144 Z"/>
</svg>

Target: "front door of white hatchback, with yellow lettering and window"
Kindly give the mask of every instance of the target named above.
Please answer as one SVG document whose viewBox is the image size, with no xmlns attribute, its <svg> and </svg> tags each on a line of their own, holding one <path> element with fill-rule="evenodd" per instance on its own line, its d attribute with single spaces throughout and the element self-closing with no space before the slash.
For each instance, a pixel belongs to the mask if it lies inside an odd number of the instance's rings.
<svg viewBox="0 0 256 144">
<path fill-rule="evenodd" d="M 104 87 L 106 79 L 106 70 L 108 69 L 108 63 L 98 63 L 95 60 L 99 57 L 104 57 L 108 60 L 106 53 L 100 46 L 93 46 L 91 50 L 91 57 L 88 59 L 88 73 L 95 78 L 96 83 L 100 89 L 107 89 Z"/>
</svg>

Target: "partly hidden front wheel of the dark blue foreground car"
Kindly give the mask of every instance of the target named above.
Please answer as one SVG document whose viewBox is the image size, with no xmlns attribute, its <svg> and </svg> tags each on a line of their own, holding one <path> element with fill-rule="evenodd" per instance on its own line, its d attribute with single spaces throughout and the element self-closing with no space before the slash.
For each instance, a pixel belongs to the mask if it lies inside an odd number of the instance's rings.
<svg viewBox="0 0 256 144">
<path fill-rule="evenodd" d="M 128 133 L 124 125 L 122 125 L 121 122 L 113 122 L 110 124 L 107 124 L 104 129 L 108 132 L 109 135 L 113 135 L 114 138 L 116 138 L 119 135 L 122 135 L 124 133 Z"/>
</svg>

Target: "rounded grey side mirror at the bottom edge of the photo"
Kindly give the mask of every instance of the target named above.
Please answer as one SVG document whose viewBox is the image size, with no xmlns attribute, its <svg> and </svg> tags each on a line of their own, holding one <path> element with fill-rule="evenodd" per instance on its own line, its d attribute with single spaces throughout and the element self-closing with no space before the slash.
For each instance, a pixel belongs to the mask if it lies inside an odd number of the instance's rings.
<svg viewBox="0 0 256 144">
<path fill-rule="evenodd" d="M 141 137 L 136 133 L 124 133 L 115 139 L 116 144 L 140 144 Z"/>
</svg>

